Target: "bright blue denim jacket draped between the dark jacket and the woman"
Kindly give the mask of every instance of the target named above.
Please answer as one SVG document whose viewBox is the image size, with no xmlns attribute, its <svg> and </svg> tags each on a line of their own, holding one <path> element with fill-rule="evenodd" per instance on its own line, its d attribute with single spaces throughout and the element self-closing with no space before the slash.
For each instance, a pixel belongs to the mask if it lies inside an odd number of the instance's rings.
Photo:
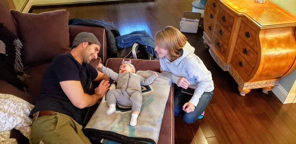
<svg viewBox="0 0 296 144">
<path fill-rule="evenodd" d="M 123 49 L 131 47 L 135 42 L 146 45 L 146 51 L 150 53 L 154 58 L 157 58 L 157 53 L 155 52 L 155 42 L 152 37 L 145 30 L 134 31 L 129 34 L 118 36 L 115 38 L 117 48 Z"/>
</svg>

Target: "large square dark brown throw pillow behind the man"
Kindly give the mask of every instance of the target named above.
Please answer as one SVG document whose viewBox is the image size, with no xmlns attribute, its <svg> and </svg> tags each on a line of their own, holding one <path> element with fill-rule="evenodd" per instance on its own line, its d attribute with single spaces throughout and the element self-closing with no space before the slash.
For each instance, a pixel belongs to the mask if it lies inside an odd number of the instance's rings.
<svg viewBox="0 0 296 144">
<path fill-rule="evenodd" d="M 20 40 L 24 47 L 21 56 L 24 65 L 49 62 L 55 56 L 70 52 L 69 12 L 56 10 L 40 14 L 10 10 L 16 20 Z"/>
</svg>

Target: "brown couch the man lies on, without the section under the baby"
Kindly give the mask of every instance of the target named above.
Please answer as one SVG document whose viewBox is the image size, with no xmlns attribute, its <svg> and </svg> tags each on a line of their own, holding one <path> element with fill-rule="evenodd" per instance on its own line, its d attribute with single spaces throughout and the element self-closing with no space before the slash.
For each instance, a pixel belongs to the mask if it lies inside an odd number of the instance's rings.
<svg viewBox="0 0 296 144">
<path fill-rule="evenodd" d="M 3 23 L 4 26 L 7 27 L 7 29 L 10 30 L 14 35 L 19 37 L 14 19 L 10 14 L 10 9 L 14 9 L 12 0 L 0 1 L 0 22 Z M 104 64 L 104 62 L 107 61 L 107 45 L 106 45 L 107 42 L 106 42 L 106 34 L 104 33 L 104 28 L 69 25 L 70 45 L 72 45 L 72 42 L 75 36 L 78 33 L 83 31 L 94 33 L 102 46 L 98 54 L 98 59 L 92 60 L 91 65 L 95 67 L 96 65 L 98 65 L 99 62 Z M 70 50 L 71 49 L 69 48 L 68 52 L 70 52 Z M 18 96 L 34 105 L 40 90 L 40 84 L 41 84 L 43 74 L 48 65 L 49 65 L 49 62 L 46 62 L 46 63 L 41 63 L 39 65 L 28 66 L 27 68 L 24 69 L 24 72 L 30 76 L 24 81 L 25 84 L 28 85 L 27 92 L 17 89 L 16 87 L 7 83 L 4 80 L 0 80 L 0 93 L 12 94 L 12 95 Z M 28 143 L 27 138 L 25 138 L 19 131 L 15 129 L 12 130 L 10 137 L 16 138 L 18 143 L 21 143 L 21 144 Z"/>
</svg>

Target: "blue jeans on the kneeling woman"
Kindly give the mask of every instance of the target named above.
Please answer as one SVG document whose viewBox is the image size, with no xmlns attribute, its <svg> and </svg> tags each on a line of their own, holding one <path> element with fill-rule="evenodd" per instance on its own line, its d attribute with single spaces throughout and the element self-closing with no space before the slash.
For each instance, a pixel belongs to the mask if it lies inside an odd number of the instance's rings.
<svg viewBox="0 0 296 144">
<path fill-rule="evenodd" d="M 182 118 L 186 123 L 194 123 L 197 120 L 198 116 L 200 116 L 201 113 L 209 105 L 209 102 L 211 101 L 214 92 L 213 91 L 204 92 L 201 95 L 201 98 L 199 98 L 199 102 L 195 107 L 194 111 L 190 113 L 186 113 L 185 111 L 182 110 L 182 108 L 186 102 L 189 102 L 192 95 L 182 93 L 181 90 L 182 90 L 181 87 L 178 87 L 177 85 L 175 85 L 175 90 L 174 90 L 175 116 L 182 114 Z"/>
</svg>

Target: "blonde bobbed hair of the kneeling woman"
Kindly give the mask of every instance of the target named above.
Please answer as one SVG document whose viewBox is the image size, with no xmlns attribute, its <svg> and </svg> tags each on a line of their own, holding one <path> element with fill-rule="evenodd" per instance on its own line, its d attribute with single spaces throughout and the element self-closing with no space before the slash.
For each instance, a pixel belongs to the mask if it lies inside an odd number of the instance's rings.
<svg viewBox="0 0 296 144">
<path fill-rule="evenodd" d="M 180 50 L 186 44 L 186 37 L 175 27 L 166 26 L 155 33 L 155 45 L 169 51 L 172 61 L 181 56 Z"/>
</svg>

